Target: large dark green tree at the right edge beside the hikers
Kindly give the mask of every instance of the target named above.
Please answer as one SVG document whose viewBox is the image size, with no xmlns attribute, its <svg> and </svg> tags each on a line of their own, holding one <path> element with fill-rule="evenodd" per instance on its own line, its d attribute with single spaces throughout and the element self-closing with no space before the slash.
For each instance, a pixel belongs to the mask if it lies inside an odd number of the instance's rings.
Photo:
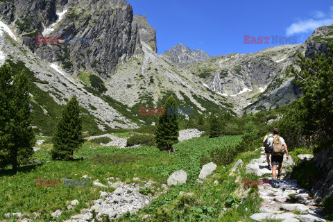
<svg viewBox="0 0 333 222">
<path fill-rule="evenodd" d="M 286 110 L 279 121 L 282 136 L 291 138 L 293 145 L 307 147 L 333 139 L 333 44 L 330 57 L 316 53 L 315 60 L 298 54 L 301 71 L 292 69 L 302 96 Z"/>
</svg>

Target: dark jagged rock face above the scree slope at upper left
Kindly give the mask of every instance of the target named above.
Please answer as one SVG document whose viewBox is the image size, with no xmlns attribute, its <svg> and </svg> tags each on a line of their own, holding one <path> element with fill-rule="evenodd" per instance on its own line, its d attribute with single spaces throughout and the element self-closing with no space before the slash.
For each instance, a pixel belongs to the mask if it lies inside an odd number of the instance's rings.
<svg viewBox="0 0 333 222">
<path fill-rule="evenodd" d="M 106 78 L 114 74 L 119 62 L 133 56 L 139 44 L 137 22 L 133 22 L 133 9 L 126 1 L 15 1 L 1 5 L 10 8 L 3 17 L 14 23 L 12 27 L 17 26 L 23 44 L 67 71 L 87 69 Z M 35 35 L 67 35 L 78 42 L 36 44 Z"/>
</svg>

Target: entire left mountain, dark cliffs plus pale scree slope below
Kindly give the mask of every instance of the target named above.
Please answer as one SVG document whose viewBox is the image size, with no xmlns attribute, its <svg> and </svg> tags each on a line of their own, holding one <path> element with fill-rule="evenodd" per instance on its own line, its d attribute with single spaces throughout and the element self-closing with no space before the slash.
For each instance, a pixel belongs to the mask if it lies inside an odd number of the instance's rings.
<svg viewBox="0 0 333 222">
<path fill-rule="evenodd" d="M 56 6 L 55 17 L 49 22 L 37 19 L 37 25 L 26 22 L 22 31 L 16 22 L 26 21 L 18 17 L 22 8 L 0 3 L 11 9 L 0 17 L 9 27 L 0 31 L 0 62 L 7 59 L 14 67 L 27 68 L 37 117 L 34 127 L 55 125 L 61 105 L 74 94 L 84 108 L 85 128 L 89 132 L 94 128 L 93 133 L 97 126 L 107 130 L 154 124 L 157 117 L 139 115 L 139 108 L 160 107 L 170 94 L 176 95 L 180 107 L 193 108 L 194 114 L 233 113 L 232 105 L 207 90 L 197 76 L 157 55 L 155 31 L 145 17 L 133 17 L 126 1 L 48 2 Z M 40 8 L 34 10 L 40 12 Z M 6 22 L 6 17 L 13 19 Z M 35 35 L 87 37 L 88 42 L 35 44 Z M 92 75 L 101 76 L 106 92 L 92 88 Z"/>
</svg>

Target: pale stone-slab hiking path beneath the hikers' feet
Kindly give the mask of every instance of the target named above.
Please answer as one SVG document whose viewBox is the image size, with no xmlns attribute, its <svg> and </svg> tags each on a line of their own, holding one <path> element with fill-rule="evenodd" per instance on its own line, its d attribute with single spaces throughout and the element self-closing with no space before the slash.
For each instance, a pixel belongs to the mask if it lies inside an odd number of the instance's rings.
<svg viewBox="0 0 333 222">
<path fill-rule="evenodd" d="M 262 147 L 262 150 L 264 148 Z M 260 213 L 250 216 L 255 221 L 266 221 L 268 219 L 281 220 L 283 222 L 312 222 L 325 221 L 322 208 L 316 203 L 309 191 L 302 189 L 296 180 L 288 178 L 287 171 L 295 165 L 291 156 L 282 163 L 281 179 L 277 186 L 271 186 L 271 171 L 267 169 L 266 155 L 264 151 L 259 159 L 252 160 L 246 166 L 248 173 L 263 176 L 258 185 L 259 195 L 264 200 L 260 207 Z M 287 171 L 286 171 L 287 169 Z M 266 176 L 266 177 L 265 177 Z"/>
</svg>

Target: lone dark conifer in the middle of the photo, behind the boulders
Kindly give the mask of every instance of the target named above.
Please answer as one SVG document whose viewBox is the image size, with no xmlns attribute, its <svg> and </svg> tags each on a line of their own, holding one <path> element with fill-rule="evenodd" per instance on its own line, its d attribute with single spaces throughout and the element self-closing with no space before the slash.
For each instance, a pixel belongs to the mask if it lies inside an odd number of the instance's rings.
<svg viewBox="0 0 333 222">
<path fill-rule="evenodd" d="M 173 96 L 170 96 L 164 104 L 166 110 L 167 108 L 176 108 L 176 101 Z M 161 150 L 170 150 L 172 145 L 178 143 L 179 137 L 179 126 L 177 115 L 175 114 L 160 114 L 158 117 L 158 122 L 156 126 L 155 139 L 157 142 L 157 147 Z"/>
</svg>

